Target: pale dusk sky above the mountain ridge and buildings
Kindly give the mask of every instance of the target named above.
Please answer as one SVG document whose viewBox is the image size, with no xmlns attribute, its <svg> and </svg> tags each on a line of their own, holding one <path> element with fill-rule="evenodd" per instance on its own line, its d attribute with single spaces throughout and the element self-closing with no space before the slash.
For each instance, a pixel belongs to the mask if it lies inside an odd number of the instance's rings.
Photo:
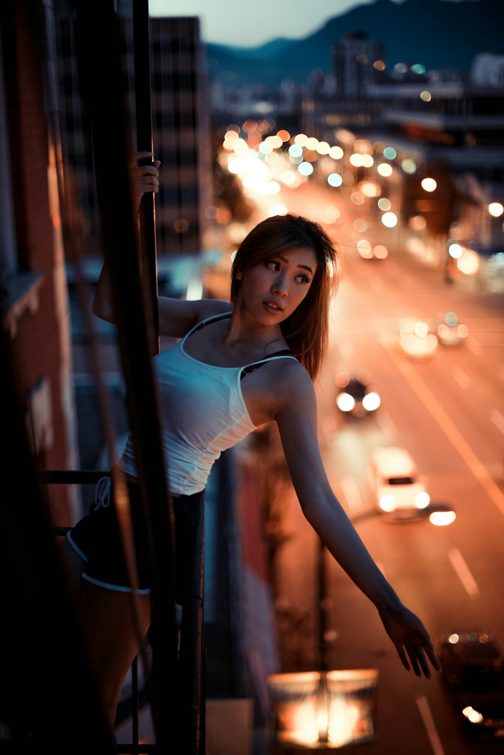
<svg viewBox="0 0 504 755">
<path fill-rule="evenodd" d="M 278 37 L 300 39 L 335 16 L 373 0 L 149 0 L 151 16 L 199 16 L 204 42 L 256 47 Z M 401 3 L 401 0 L 394 0 Z M 457 2 L 457 0 L 445 0 Z"/>
</svg>

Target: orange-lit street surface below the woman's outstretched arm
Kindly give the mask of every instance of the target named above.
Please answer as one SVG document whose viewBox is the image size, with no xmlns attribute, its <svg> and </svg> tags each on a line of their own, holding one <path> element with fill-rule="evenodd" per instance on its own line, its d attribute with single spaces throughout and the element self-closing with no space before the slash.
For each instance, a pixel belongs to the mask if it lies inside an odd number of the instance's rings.
<svg viewBox="0 0 504 755">
<path fill-rule="evenodd" d="M 289 211 L 318 220 L 327 190 L 284 192 Z M 347 200 L 348 202 L 348 200 Z M 334 202 L 336 204 L 336 202 Z M 343 205 L 338 204 L 343 209 Z M 350 207 L 350 209 L 349 209 Z M 363 259 L 352 227 L 358 209 L 327 231 L 343 251 L 343 281 L 333 305 L 330 348 L 316 384 L 319 436 L 330 484 L 373 559 L 432 639 L 439 633 L 486 627 L 504 643 L 504 317 L 502 299 L 449 285 L 397 244 L 384 260 Z M 426 361 L 395 346 L 398 320 L 455 312 L 469 328 L 459 347 L 438 344 Z M 382 403 L 361 420 L 337 413 L 335 375 L 365 370 Z M 370 451 L 407 448 L 426 476 L 432 504 L 447 504 L 455 521 L 434 526 L 386 522 L 367 481 Z M 318 538 L 293 492 L 282 501 L 289 537 L 275 557 L 275 589 L 284 671 L 316 669 L 318 658 Z M 502 752 L 470 744 L 459 732 L 438 674 L 407 673 L 373 606 L 326 553 L 329 669 L 379 670 L 378 755 L 466 755 Z M 352 746 L 358 752 L 359 747 Z"/>
</svg>

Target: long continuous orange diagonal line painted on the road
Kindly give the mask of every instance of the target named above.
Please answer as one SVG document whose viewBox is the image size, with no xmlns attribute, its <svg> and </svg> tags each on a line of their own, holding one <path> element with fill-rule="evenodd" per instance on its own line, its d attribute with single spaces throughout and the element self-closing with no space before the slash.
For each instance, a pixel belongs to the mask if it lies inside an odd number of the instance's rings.
<svg viewBox="0 0 504 755">
<path fill-rule="evenodd" d="M 460 457 L 466 462 L 481 487 L 484 488 L 488 497 L 493 501 L 500 513 L 504 514 L 504 495 L 502 494 L 502 491 L 498 485 L 496 485 L 496 482 L 493 481 L 487 469 L 484 467 L 484 464 L 482 464 L 475 455 L 475 452 L 472 450 L 463 434 L 458 430 L 447 412 L 444 411 L 444 408 L 441 406 L 440 402 L 438 402 L 438 399 L 436 399 L 432 390 L 426 386 L 419 374 L 413 369 L 413 366 L 410 365 L 410 362 L 407 362 L 406 359 L 399 359 L 398 355 L 396 355 L 393 350 L 389 350 L 387 353 L 398 370 L 402 372 L 407 383 L 426 406 L 432 418 L 438 423 L 439 427 L 441 427 L 441 430 L 443 430 L 447 439 L 453 445 L 453 448 L 456 448 Z"/>
</svg>

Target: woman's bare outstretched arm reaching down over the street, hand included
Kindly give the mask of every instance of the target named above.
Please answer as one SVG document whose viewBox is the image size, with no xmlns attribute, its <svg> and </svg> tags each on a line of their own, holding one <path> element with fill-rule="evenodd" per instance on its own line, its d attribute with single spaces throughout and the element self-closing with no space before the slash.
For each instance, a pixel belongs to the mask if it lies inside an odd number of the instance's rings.
<svg viewBox="0 0 504 755">
<path fill-rule="evenodd" d="M 423 672 L 429 677 L 427 658 L 439 670 L 429 633 L 419 618 L 403 606 L 330 488 L 318 446 L 312 381 L 298 365 L 287 372 L 275 421 L 303 513 L 327 550 L 376 606 L 404 667 L 409 670 L 409 658 L 417 676 Z"/>
</svg>

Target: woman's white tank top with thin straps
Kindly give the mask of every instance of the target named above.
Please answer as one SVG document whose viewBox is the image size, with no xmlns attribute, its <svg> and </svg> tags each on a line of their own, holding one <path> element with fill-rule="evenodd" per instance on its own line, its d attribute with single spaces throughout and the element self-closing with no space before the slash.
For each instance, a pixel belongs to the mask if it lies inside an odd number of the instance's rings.
<svg viewBox="0 0 504 755">
<path fill-rule="evenodd" d="M 190 334 L 209 322 L 230 316 L 231 313 L 225 313 L 208 317 L 174 347 L 152 359 L 167 488 L 174 495 L 191 495 L 202 490 L 222 451 L 255 430 L 241 393 L 241 373 L 247 374 L 256 365 L 272 359 L 296 359 L 288 352 L 279 352 L 243 367 L 216 367 L 186 353 L 184 344 Z M 124 472 L 137 476 L 132 436 L 119 464 Z"/>
</svg>

